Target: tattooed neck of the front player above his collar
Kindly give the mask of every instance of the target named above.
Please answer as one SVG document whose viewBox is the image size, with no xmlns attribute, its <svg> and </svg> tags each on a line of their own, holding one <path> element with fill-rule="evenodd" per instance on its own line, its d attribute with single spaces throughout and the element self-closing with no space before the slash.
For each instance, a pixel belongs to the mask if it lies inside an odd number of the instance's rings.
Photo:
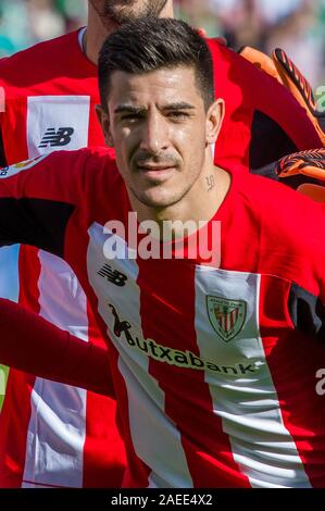
<svg viewBox="0 0 325 511">
<path fill-rule="evenodd" d="M 180 221 L 179 233 L 173 227 L 176 238 L 183 237 L 186 222 L 195 222 L 196 225 L 209 222 L 223 203 L 230 187 L 230 175 L 223 169 L 211 163 L 203 170 L 189 192 L 179 202 L 163 209 L 154 209 L 139 202 L 132 194 L 129 199 L 138 221 L 154 221 L 161 233 L 161 239 L 166 234 L 166 222 Z"/>
</svg>

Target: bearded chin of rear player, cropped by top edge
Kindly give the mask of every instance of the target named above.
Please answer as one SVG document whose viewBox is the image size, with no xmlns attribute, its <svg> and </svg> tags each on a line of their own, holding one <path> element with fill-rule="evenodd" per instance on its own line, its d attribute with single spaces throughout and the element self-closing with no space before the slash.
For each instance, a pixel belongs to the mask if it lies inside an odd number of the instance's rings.
<svg viewBox="0 0 325 511">
<path fill-rule="evenodd" d="M 122 25 L 142 16 L 159 16 L 168 0 L 89 0 L 103 25 Z"/>
</svg>

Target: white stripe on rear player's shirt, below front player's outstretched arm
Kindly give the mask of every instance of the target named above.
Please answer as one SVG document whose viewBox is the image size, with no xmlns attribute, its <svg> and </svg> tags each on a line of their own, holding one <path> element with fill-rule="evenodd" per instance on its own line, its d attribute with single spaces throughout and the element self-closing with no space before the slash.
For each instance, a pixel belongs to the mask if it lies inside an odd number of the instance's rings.
<svg viewBox="0 0 325 511">
<path fill-rule="evenodd" d="M 39 251 L 40 315 L 88 340 L 86 296 L 70 266 Z M 46 339 L 45 339 L 46 342 Z M 27 432 L 24 479 L 83 486 L 86 390 L 36 378 Z"/>
</svg>

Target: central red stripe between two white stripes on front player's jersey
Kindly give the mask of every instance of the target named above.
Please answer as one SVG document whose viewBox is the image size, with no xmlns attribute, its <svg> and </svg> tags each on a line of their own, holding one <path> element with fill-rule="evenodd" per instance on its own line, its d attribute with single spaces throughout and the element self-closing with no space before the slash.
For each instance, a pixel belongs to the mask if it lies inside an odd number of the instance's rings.
<svg viewBox="0 0 325 511">
<path fill-rule="evenodd" d="M 138 260 L 138 264 L 145 337 L 199 354 L 195 331 L 195 266 L 166 260 Z M 154 295 L 150 292 L 152 289 Z M 152 359 L 149 370 L 165 392 L 165 413 L 182 435 L 193 486 L 249 486 L 234 461 L 222 421 L 213 412 L 204 373 Z"/>
</svg>

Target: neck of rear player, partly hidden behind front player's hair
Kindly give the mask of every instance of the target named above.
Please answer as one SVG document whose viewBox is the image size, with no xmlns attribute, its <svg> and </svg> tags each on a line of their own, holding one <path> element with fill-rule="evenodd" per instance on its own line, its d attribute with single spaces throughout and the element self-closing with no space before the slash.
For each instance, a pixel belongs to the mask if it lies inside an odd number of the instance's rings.
<svg viewBox="0 0 325 511">
<path fill-rule="evenodd" d="M 159 17 L 174 17 L 174 8 L 172 0 L 166 2 L 166 5 L 160 13 Z M 88 2 L 88 21 L 87 30 L 84 35 L 84 48 L 87 58 L 93 63 L 98 62 L 99 51 L 105 40 L 105 38 L 113 32 L 118 29 L 118 25 L 110 20 L 105 20 L 105 24 L 98 12 L 93 9 L 90 2 Z"/>
</svg>

